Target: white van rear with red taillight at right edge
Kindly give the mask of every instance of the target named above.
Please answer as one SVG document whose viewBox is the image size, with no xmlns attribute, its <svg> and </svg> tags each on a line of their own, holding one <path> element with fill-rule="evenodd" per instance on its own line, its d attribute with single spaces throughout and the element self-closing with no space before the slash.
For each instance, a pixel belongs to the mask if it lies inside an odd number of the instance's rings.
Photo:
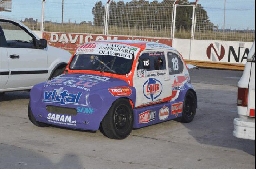
<svg viewBox="0 0 256 169">
<path fill-rule="evenodd" d="M 238 82 L 237 112 L 233 136 L 255 140 L 255 42 L 247 57 L 244 73 Z"/>
</svg>

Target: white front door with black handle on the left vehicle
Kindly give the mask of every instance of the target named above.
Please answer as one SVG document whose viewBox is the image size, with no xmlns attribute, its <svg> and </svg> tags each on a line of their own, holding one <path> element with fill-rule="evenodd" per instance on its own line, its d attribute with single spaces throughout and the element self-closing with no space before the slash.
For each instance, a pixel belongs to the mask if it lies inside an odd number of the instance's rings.
<svg viewBox="0 0 256 169">
<path fill-rule="evenodd" d="M 38 48 L 38 40 L 19 24 L 1 19 L 7 41 L 10 75 L 5 88 L 29 88 L 45 81 L 48 73 L 45 48 Z"/>
</svg>

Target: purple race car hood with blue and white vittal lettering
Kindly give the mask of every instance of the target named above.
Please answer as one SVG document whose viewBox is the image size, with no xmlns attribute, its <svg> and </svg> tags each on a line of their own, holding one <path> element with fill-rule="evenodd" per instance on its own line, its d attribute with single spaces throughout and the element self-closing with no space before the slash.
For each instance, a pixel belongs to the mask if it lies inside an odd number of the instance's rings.
<svg viewBox="0 0 256 169">
<path fill-rule="evenodd" d="M 38 85 L 40 86 L 40 84 Z M 88 105 L 86 100 L 89 100 L 92 103 L 90 104 L 91 107 L 102 108 L 103 100 L 105 105 L 111 105 L 110 102 L 112 103 L 113 100 L 109 98 L 115 97 L 113 95 L 116 94 L 116 87 L 124 88 L 124 92 L 121 94 L 131 94 L 131 88 L 124 80 L 93 74 L 62 74 L 48 80 L 41 86 L 41 96 L 36 92 L 38 87 L 32 88 L 31 100 L 39 101 L 38 97 L 40 97 L 43 103 L 56 106 L 86 106 Z M 119 94 L 118 91 L 117 94 Z"/>
</svg>

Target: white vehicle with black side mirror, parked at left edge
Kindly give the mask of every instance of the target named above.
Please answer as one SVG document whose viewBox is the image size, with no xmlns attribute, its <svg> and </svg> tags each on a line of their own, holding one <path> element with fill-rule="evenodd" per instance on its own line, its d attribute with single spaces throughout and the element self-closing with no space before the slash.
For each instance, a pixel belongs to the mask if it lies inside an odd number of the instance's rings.
<svg viewBox="0 0 256 169">
<path fill-rule="evenodd" d="M 1 16 L 1 93 L 29 90 L 64 72 L 71 54 L 47 45 L 21 22 Z"/>
</svg>

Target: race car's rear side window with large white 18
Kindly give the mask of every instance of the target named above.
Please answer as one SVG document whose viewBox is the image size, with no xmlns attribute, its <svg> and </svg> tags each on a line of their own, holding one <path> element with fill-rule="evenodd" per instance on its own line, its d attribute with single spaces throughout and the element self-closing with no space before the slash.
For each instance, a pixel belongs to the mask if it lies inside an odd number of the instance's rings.
<svg viewBox="0 0 256 169">
<path fill-rule="evenodd" d="M 167 59 L 168 59 L 168 71 L 169 75 L 179 74 L 183 72 L 183 62 L 180 57 L 172 52 L 167 52 Z"/>
</svg>

